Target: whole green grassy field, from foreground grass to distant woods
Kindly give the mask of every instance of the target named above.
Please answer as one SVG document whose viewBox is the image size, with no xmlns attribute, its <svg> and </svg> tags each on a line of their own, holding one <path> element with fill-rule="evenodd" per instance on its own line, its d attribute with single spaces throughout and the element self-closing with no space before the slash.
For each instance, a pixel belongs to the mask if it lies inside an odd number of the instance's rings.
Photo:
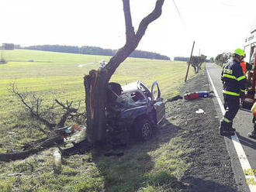
<svg viewBox="0 0 256 192">
<path fill-rule="evenodd" d="M 19 91 L 43 95 L 44 105 L 58 98 L 82 101 L 85 108 L 83 76 L 97 69 L 99 60 L 110 58 L 36 50 L 5 50 L 3 57 L 9 62 L 0 65 L 0 153 L 20 150 L 24 142 L 43 136 L 29 127 L 27 119 L 16 117 L 20 104 L 7 90 L 9 84 L 15 82 Z M 170 98 L 178 94 L 186 67 L 184 62 L 128 58 L 111 81 L 124 85 L 140 80 L 148 87 L 158 81 L 162 96 Z M 191 70 L 189 77 L 193 75 Z M 120 158 L 102 156 L 100 150 L 65 157 L 61 173 L 54 172 L 54 149 L 0 163 L 0 191 L 162 191 L 164 184 L 179 178 L 189 167 L 181 159 L 185 151 L 178 146 L 179 139 L 172 132 L 158 135 L 150 142 L 130 146 Z M 8 173 L 22 176 L 6 177 Z"/>
</svg>

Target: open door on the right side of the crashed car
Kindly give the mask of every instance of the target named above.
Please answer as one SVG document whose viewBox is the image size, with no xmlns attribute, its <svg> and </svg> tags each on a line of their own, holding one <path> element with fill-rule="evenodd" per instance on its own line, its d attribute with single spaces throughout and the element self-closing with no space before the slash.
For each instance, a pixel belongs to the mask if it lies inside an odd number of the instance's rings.
<svg viewBox="0 0 256 192">
<path fill-rule="evenodd" d="M 161 98 L 161 91 L 157 84 L 157 81 L 154 81 L 151 87 L 151 101 L 154 101 L 154 108 L 157 111 L 157 124 L 165 117 L 165 105 L 164 100 Z"/>
</svg>

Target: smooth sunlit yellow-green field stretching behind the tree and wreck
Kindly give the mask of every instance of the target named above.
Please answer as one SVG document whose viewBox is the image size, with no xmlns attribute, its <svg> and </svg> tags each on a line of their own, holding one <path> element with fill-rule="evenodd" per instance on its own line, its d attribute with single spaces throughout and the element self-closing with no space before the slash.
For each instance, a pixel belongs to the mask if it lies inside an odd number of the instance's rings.
<svg viewBox="0 0 256 192">
<path fill-rule="evenodd" d="M 0 100 L 3 101 L 0 115 L 16 108 L 16 100 L 7 91 L 12 82 L 16 82 L 21 91 L 26 87 L 28 91 L 44 94 L 48 101 L 53 97 L 64 101 L 85 100 L 83 76 L 97 69 L 100 60 L 110 58 L 36 50 L 4 50 L 3 57 L 9 62 L 0 65 Z M 124 85 L 140 80 L 149 88 L 158 81 L 162 95 L 167 98 L 177 94 L 175 88 L 184 82 L 186 67 L 184 62 L 128 58 L 110 81 Z M 193 74 L 191 70 L 190 77 Z"/>
</svg>

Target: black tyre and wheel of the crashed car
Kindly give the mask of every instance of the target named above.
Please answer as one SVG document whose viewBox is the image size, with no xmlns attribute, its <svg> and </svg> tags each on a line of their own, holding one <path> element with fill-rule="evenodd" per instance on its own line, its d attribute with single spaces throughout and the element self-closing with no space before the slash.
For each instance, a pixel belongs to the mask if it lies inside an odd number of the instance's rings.
<svg viewBox="0 0 256 192">
<path fill-rule="evenodd" d="M 138 119 L 134 129 L 135 137 L 140 141 L 147 141 L 152 136 L 152 124 L 148 119 Z"/>
</svg>

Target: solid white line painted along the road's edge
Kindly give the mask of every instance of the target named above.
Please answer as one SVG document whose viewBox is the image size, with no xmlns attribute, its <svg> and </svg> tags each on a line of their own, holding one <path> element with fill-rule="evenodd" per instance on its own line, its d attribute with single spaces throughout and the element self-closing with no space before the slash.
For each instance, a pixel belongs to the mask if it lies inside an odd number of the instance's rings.
<svg viewBox="0 0 256 192">
<path fill-rule="evenodd" d="M 213 80 L 209 76 L 208 70 L 206 70 L 206 71 L 207 71 L 207 74 L 208 74 L 208 77 L 209 77 L 209 81 L 211 82 L 211 84 L 213 86 L 214 94 L 215 94 L 215 96 L 217 98 L 217 101 L 218 101 L 218 103 L 220 105 L 221 112 L 224 115 L 225 114 L 225 109 L 224 109 L 224 106 L 223 106 L 223 104 L 222 104 L 222 102 L 220 100 L 220 96 L 217 93 L 216 88 L 214 87 Z M 240 164 L 242 166 L 243 174 L 244 174 L 244 170 L 251 170 L 250 163 L 249 163 L 249 161 L 247 159 L 247 156 L 244 153 L 244 149 L 243 149 L 242 145 L 240 144 L 240 141 L 239 141 L 239 139 L 237 137 L 237 133 L 235 133 L 235 135 L 232 135 L 231 139 L 232 139 L 232 141 L 234 143 L 234 148 L 236 149 L 237 156 L 238 156 L 238 159 L 239 159 Z M 255 172 L 252 172 L 252 174 L 254 174 L 254 173 Z M 251 192 L 256 192 L 256 177 L 254 175 L 245 175 L 245 174 L 244 174 L 244 177 L 245 177 L 244 182 L 248 181 L 248 183 L 249 183 L 249 181 L 254 180 L 254 185 L 253 184 L 248 184 L 248 187 L 249 187 Z"/>
</svg>

